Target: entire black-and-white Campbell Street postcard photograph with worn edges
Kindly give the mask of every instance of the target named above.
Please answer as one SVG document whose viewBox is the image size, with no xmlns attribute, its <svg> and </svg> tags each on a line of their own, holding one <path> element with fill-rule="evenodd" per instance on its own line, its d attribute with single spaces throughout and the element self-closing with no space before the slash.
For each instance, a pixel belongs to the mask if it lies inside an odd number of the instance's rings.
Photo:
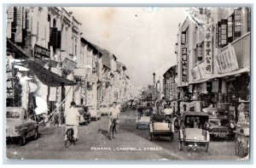
<svg viewBox="0 0 256 168">
<path fill-rule="evenodd" d="M 9 4 L 3 157 L 247 164 L 251 9 Z"/>
</svg>

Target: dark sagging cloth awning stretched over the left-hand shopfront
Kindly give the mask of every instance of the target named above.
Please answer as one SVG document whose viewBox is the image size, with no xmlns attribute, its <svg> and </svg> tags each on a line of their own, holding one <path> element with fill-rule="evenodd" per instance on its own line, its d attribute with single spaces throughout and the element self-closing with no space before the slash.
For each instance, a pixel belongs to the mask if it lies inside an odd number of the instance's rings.
<svg viewBox="0 0 256 168">
<path fill-rule="evenodd" d="M 30 59 L 25 60 L 25 62 L 27 63 L 27 68 L 32 70 L 32 72 L 38 77 L 40 81 L 44 83 L 44 85 L 49 87 L 77 85 L 75 81 L 70 81 L 62 76 L 58 76 L 57 74 L 45 69 L 43 66 Z"/>
</svg>

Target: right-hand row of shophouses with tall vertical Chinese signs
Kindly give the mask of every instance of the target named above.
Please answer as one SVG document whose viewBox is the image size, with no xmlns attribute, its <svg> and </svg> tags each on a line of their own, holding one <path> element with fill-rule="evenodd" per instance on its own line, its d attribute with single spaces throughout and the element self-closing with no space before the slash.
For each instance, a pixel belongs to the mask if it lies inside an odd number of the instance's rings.
<svg viewBox="0 0 256 168">
<path fill-rule="evenodd" d="M 178 25 L 172 64 L 159 94 L 173 102 L 201 102 L 201 108 L 249 102 L 250 8 L 190 8 Z M 179 105 L 176 110 L 184 110 Z"/>
</svg>

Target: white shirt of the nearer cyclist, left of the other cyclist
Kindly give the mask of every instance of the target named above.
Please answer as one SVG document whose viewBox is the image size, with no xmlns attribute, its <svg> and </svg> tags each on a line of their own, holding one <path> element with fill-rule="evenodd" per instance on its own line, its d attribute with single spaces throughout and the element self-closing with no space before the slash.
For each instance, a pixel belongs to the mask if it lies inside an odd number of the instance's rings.
<svg viewBox="0 0 256 168">
<path fill-rule="evenodd" d="M 79 126 L 79 110 L 73 107 L 67 108 L 66 113 L 66 124 L 67 125 L 74 125 Z"/>
</svg>

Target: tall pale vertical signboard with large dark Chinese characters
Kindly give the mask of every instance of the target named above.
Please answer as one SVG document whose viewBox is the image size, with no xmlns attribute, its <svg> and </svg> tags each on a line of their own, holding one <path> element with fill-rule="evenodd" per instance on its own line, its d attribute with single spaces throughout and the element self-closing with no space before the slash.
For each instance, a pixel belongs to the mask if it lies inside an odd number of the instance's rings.
<svg viewBox="0 0 256 168">
<path fill-rule="evenodd" d="M 206 25 L 205 34 L 205 58 L 206 58 L 206 73 L 212 73 L 212 24 Z"/>
</svg>

